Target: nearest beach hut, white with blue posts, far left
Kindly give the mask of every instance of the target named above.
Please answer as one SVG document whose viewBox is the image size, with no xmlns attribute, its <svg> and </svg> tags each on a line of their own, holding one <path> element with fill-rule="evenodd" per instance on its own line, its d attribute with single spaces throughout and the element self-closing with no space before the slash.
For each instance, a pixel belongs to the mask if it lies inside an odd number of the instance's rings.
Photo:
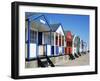
<svg viewBox="0 0 100 81">
<path fill-rule="evenodd" d="M 32 14 L 26 17 L 26 58 L 33 59 L 51 55 L 50 27 L 44 15 Z"/>
</svg>

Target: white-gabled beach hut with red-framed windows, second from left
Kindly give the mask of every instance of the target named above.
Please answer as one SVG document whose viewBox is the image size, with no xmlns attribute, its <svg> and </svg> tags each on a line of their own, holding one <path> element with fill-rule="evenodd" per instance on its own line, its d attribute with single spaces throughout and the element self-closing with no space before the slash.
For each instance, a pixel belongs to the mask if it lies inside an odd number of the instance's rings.
<svg viewBox="0 0 100 81">
<path fill-rule="evenodd" d="M 61 23 L 51 24 L 51 54 L 54 56 L 65 54 L 65 34 Z"/>
</svg>

